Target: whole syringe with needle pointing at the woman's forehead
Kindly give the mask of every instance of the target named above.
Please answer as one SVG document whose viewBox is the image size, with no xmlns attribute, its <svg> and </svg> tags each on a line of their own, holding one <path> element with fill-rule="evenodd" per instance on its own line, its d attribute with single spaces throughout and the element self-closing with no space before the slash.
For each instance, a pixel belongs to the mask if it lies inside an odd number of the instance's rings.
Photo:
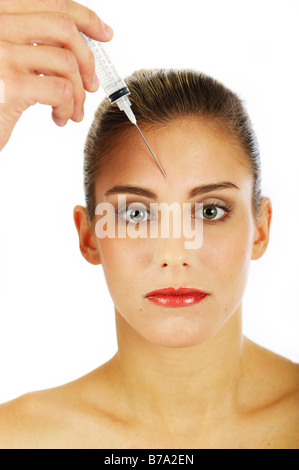
<svg viewBox="0 0 299 470">
<path fill-rule="evenodd" d="M 86 44 L 90 48 L 95 58 L 95 72 L 100 81 L 100 85 L 103 87 L 106 95 L 108 96 L 111 103 L 116 103 L 121 111 L 124 111 L 128 119 L 137 127 L 141 137 L 143 138 L 147 148 L 151 155 L 155 159 L 158 167 L 160 168 L 163 176 L 167 178 L 165 171 L 161 167 L 160 163 L 153 154 L 150 146 L 144 138 L 139 126 L 137 124 L 136 117 L 131 109 L 131 102 L 128 98 L 130 90 L 128 89 L 124 80 L 120 77 L 115 67 L 111 63 L 106 51 L 99 41 L 89 38 L 81 32 L 82 37 L 85 39 Z"/>
</svg>

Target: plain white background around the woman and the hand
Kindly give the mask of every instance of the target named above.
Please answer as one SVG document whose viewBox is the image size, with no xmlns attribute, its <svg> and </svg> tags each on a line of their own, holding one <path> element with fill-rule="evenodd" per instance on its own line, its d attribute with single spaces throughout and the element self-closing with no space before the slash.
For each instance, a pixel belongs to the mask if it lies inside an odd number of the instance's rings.
<svg viewBox="0 0 299 470">
<path fill-rule="evenodd" d="M 193 68 L 245 102 L 261 148 L 270 244 L 251 262 L 244 333 L 299 360 L 297 0 L 81 2 L 111 24 L 106 50 L 122 76 Z M 79 251 L 73 207 L 84 205 L 83 147 L 102 90 L 82 123 L 59 128 L 51 108 L 27 110 L 0 154 L 0 402 L 61 385 L 117 350 L 102 267 Z"/>
</svg>

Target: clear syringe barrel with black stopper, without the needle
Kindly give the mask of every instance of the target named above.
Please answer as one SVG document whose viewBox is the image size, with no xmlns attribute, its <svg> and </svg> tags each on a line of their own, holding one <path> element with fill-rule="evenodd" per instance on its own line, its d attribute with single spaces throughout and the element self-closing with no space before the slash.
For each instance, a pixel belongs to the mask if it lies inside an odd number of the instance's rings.
<svg viewBox="0 0 299 470">
<path fill-rule="evenodd" d="M 111 63 L 102 44 L 89 38 L 82 32 L 81 35 L 95 56 L 95 72 L 100 81 L 100 85 L 103 87 L 111 103 L 114 103 L 122 96 L 129 95 L 130 91 L 127 85 Z"/>
</svg>

